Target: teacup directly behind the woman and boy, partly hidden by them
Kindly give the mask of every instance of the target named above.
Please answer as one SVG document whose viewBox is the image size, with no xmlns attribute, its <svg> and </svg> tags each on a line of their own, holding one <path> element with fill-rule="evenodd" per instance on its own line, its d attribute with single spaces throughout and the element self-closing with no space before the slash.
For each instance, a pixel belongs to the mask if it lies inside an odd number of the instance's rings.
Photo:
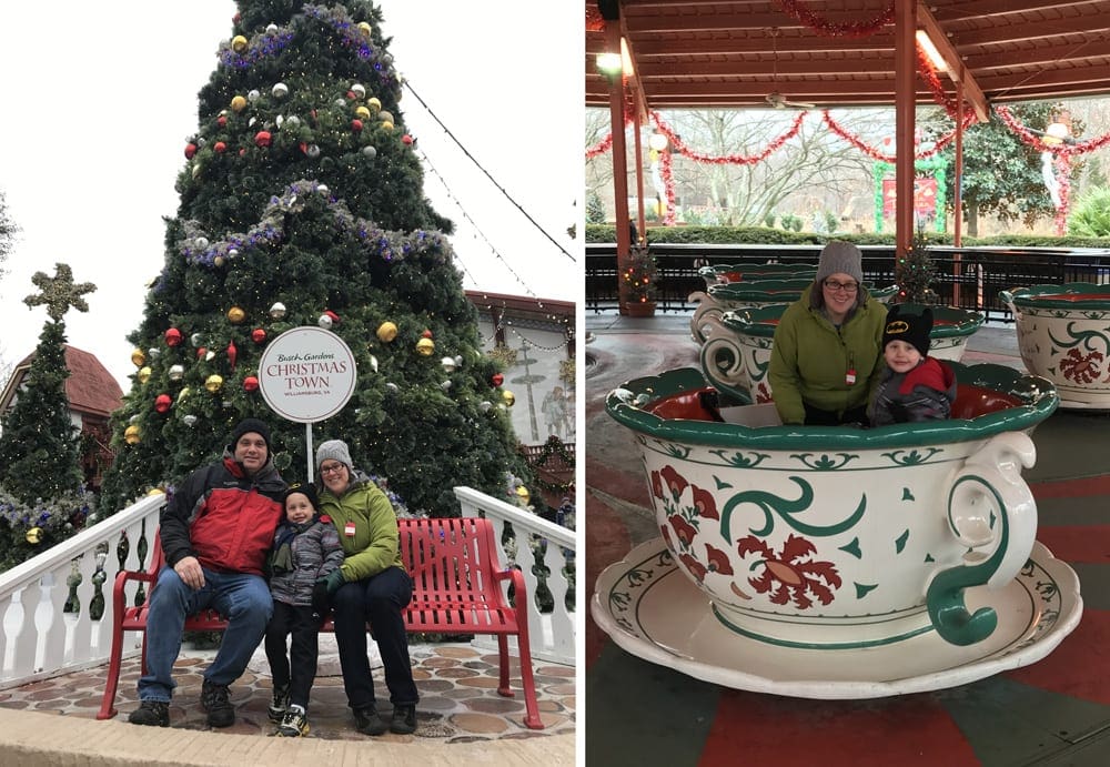
<svg viewBox="0 0 1110 767">
<path fill-rule="evenodd" d="M 768 304 L 725 312 L 705 323 L 702 370 L 709 383 L 723 392 L 750 402 L 770 402 L 767 380 L 775 329 L 789 304 Z M 918 304 L 906 303 L 910 313 Z M 929 356 L 959 362 L 968 340 L 982 326 L 982 314 L 955 306 L 930 306 L 932 330 Z"/>
</svg>

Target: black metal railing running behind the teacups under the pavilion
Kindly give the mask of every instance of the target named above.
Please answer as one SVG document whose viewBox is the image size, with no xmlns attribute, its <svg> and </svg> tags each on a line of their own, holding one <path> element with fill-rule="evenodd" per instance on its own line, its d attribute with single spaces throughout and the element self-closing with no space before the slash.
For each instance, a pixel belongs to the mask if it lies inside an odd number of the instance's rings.
<svg viewBox="0 0 1110 767">
<path fill-rule="evenodd" d="M 659 311 L 688 312 L 697 302 L 692 293 L 705 290 L 698 270 L 719 263 L 817 264 L 821 245 L 652 245 L 656 256 L 656 306 Z M 895 282 L 894 245 L 860 245 L 864 280 L 878 287 Z M 1011 320 L 998 300 L 1002 290 L 1064 282 L 1110 282 L 1110 250 L 1094 248 L 929 248 L 937 269 L 935 290 L 945 304 L 983 312 L 988 320 Z M 586 244 L 586 309 L 617 309 L 616 245 Z"/>
</svg>

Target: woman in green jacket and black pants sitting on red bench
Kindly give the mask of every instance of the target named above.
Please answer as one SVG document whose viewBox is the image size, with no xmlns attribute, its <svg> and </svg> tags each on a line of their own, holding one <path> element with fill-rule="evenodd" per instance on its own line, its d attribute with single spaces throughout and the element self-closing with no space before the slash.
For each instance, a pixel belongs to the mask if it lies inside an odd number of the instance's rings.
<svg viewBox="0 0 1110 767">
<path fill-rule="evenodd" d="M 377 485 L 354 468 L 342 440 L 320 445 L 316 470 L 323 485 L 320 511 L 335 525 L 344 559 L 339 569 L 316 584 L 313 604 L 322 613 L 331 601 L 347 705 L 364 735 L 382 735 L 386 729 L 413 733 L 420 696 L 401 616 L 412 599 L 413 582 L 401 559 L 397 515 Z M 374 699 L 366 657 L 367 622 L 374 627 L 393 704 L 389 725 L 379 717 Z"/>
</svg>

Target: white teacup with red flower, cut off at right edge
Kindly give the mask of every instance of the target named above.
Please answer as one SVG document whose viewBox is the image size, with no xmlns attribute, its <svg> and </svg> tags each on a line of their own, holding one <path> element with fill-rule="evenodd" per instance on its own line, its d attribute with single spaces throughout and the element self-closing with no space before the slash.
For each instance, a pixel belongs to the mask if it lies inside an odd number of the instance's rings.
<svg viewBox="0 0 1110 767">
<path fill-rule="evenodd" d="M 1110 285 L 1068 282 L 1001 291 L 1021 361 L 1060 394 L 1060 407 L 1110 410 Z"/>
</svg>

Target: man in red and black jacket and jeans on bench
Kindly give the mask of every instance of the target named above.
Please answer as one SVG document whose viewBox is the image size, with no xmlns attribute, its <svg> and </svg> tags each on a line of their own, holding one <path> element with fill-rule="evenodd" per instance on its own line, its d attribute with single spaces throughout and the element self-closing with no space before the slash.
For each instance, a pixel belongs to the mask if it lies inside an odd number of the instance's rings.
<svg viewBox="0 0 1110 767">
<path fill-rule="evenodd" d="M 242 676 L 273 613 L 264 566 L 281 519 L 285 482 L 270 453 L 270 427 L 245 418 L 223 461 L 193 472 L 162 509 L 159 536 L 167 566 L 151 591 L 147 673 L 128 720 L 167 727 L 185 617 L 213 608 L 228 620 L 201 688 L 211 727 L 235 721 L 228 686 Z"/>
</svg>

